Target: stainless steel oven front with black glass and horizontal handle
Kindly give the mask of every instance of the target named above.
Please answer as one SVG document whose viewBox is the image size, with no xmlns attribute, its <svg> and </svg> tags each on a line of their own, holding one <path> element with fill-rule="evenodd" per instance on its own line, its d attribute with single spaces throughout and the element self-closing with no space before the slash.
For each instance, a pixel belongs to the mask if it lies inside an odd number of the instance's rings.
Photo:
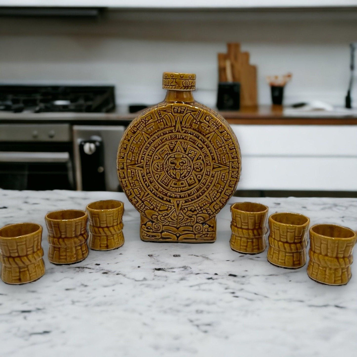
<svg viewBox="0 0 357 357">
<path fill-rule="evenodd" d="M 0 187 L 74 190 L 69 124 L 1 124 Z"/>
</svg>

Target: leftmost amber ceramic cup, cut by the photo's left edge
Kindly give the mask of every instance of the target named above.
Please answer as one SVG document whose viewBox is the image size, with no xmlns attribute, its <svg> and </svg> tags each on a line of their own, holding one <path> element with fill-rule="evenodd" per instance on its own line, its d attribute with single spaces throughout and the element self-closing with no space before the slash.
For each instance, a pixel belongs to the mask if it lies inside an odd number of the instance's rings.
<svg viewBox="0 0 357 357">
<path fill-rule="evenodd" d="M 37 223 L 17 223 L 0 229 L 2 281 L 23 284 L 44 275 L 41 239 L 42 227 Z"/>
</svg>

